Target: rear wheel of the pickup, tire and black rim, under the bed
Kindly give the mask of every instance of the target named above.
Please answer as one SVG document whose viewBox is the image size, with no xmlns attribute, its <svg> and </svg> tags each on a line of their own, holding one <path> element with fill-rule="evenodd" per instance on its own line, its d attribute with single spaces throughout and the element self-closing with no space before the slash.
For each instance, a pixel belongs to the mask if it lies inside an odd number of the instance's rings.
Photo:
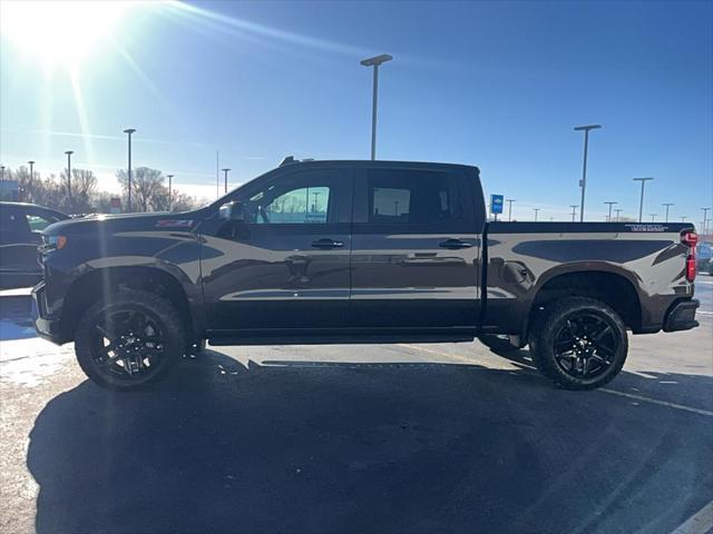
<svg viewBox="0 0 713 534">
<path fill-rule="evenodd" d="M 566 389 L 594 389 L 612 380 L 628 352 L 618 314 L 593 298 L 556 301 L 531 333 L 540 370 Z"/>
</svg>

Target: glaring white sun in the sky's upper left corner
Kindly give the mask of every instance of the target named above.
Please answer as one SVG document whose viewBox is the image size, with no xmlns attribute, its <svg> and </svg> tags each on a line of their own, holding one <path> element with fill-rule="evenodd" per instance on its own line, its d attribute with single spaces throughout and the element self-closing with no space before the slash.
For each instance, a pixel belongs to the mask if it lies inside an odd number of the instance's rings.
<svg viewBox="0 0 713 534">
<path fill-rule="evenodd" d="M 2 37 L 48 67 L 76 67 L 100 53 L 135 4 L 118 0 L 0 2 Z"/>
</svg>

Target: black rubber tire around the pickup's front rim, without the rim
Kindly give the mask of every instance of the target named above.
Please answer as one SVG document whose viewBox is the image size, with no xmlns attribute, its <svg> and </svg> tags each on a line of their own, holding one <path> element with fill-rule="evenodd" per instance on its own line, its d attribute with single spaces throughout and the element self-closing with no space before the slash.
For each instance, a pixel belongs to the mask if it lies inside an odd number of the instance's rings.
<svg viewBox="0 0 713 534">
<path fill-rule="evenodd" d="M 121 312 L 145 314 L 158 326 L 163 339 L 163 357 L 144 376 L 126 378 L 101 370 L 96 359 L 97 327 L 102 319 Z M 138 289 L 120 289 L 95 305 L 79 319 L 75 335 L 75 353 L 85 374 L 101 387 L 114 390 L 135 390 L 156 384 L 166 376 L 186 347 L 185 322 L 165 298 Z"/>
</svg>

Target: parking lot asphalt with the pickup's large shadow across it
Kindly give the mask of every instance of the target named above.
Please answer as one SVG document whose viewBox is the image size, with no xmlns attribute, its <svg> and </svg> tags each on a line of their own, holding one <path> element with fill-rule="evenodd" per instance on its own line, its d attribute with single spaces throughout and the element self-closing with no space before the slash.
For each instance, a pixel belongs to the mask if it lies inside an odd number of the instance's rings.
<svg viewBox="0 0 713 534">
<path fill-rule="evenodd" d="M 472 343 L 209 347 L 116 394 L 0 296 L 0 532 L 670 533 L 713 501 L 696 294 L 586 393 Z"/>
</svg>

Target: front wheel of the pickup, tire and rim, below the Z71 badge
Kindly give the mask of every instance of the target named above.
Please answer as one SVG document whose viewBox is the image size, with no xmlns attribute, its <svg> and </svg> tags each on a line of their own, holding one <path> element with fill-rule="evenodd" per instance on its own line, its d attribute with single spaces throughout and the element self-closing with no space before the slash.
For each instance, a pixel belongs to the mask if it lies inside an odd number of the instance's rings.
<svg viewBox="0 0 713 534">
<path fill-rule="evenodd" d="M 148 291 L 123 289 L 81 317 L 75 352 L 86 375 L 102 387 L 138 389 L 163 378 L 183 354 L 180 316 Z"/>
</svg>

